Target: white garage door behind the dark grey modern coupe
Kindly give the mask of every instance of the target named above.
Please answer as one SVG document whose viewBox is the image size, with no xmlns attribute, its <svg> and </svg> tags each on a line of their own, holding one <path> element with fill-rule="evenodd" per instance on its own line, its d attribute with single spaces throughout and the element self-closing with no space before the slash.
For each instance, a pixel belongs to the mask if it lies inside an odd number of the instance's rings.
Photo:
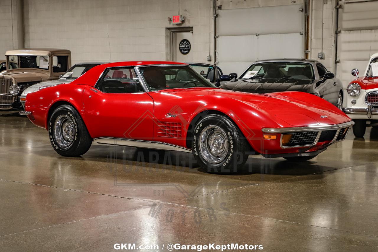
<svg viewBox="0 0 378 252">
<path fill-rule="evenodd" d="M 303 3 L 219 10 L 217 56 L 223 73 L 240 75 L 261 59 L 303 58 L 301 8 Z"/>
</svg>

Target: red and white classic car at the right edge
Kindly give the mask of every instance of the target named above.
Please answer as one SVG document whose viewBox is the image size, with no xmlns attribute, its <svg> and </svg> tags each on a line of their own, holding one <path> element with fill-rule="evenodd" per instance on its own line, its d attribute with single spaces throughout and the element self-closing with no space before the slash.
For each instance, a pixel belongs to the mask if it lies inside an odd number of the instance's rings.
<svg viewBox="0 0 378 252">
<path fill-rule="evenodd" d="M 367 126 L 378 126 L 378 53 L 370 57 L 362 76 L 352 70 L 357 78 L 347 87 L 346 107 L 342 109 L 353 119 L 353 134 L 363 137 Z"/>
</svg>

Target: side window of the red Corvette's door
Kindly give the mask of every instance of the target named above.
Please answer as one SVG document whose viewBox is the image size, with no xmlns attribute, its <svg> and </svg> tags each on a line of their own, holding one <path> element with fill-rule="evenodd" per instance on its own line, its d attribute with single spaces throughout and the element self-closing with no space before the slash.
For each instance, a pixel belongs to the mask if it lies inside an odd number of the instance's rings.
<svg viewBox="0 0 378 252">
<path fill-rule="evenodd" d="M 141 93 L 144 89 L 133 68 L 107 70 L 97 89 L 104 93 Z"/>
</svg>

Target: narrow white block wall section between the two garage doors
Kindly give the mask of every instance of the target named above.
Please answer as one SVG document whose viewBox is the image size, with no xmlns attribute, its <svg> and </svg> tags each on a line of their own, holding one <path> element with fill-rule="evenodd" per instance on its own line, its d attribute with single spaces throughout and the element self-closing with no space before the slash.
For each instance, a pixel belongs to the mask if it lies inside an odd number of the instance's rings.
<svg viewBox="0 0 378 252">
<path fill-rule="evenodd" d="M 335 73 L 336 0 L 312 0 L 311 2 L 310 58 L 321 61 L 328 71 Z M 318 53 L 322 51 L 322 34 L 325 58 L 319 59 Z"/>
</svg>

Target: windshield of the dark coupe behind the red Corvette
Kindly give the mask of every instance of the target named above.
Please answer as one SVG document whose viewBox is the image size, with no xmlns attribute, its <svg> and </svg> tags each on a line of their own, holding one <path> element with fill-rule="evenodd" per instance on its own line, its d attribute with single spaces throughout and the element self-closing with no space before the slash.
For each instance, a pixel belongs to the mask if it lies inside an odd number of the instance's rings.
<svg viewBox="0 0 378 252">
<path fill-rule="evenodd" d="M 265 62 L 253 64 L 242 79 L 315 79 L 311 64 L 301 62 Z"/>
</svg>

